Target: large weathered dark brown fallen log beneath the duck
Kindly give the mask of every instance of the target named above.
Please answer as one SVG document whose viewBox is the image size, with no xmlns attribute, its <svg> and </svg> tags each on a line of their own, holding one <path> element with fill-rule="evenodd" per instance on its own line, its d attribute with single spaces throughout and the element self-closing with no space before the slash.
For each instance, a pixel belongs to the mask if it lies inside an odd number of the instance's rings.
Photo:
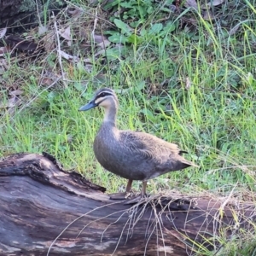
<svg viewBox="0 0 256 256">
<path fill-rule="evenodd" d="M 249 229 L 246 219 L 254 221 L 253 205 L 227 199 L 152 195 L 124 205 L 104 191 L 65 172 L 48 154 L 1 160 L 0 255 L 182 256 L 196 244 L 217 250 L 220 232 L 236 231 L 234 212 L 240 227 Z"/>
</svg>

